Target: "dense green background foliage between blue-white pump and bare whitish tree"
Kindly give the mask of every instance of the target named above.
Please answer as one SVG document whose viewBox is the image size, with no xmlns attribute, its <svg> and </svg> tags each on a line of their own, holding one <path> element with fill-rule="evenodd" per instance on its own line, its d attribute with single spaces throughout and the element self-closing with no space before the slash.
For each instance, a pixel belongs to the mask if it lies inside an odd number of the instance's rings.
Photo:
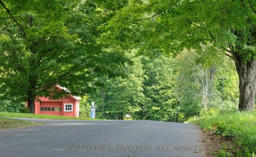
<svg viewBox="0 0 256 157">
<path fill-rule="evenodd" d="M 103 87 L 90 101 L 97 104 L 97 116 L 122 119 L 131 114 L 133 119 L 154 121 L 182 121 L 177 107 L 175 80 L 177 61 L 160 52 L 154 56 L 128 54 L 132 64 L 126 64 L 125 77 L 102 78 Z"/>
</svg>

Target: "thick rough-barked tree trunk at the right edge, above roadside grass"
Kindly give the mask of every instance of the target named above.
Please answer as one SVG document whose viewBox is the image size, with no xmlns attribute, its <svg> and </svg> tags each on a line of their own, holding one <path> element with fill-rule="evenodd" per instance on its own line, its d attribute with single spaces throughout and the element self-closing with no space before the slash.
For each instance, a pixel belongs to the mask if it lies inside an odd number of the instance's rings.
<svg viewBox="0 0 256 157">
<path fill-rule="evenodd" d="M 239 110 L 253 110 L 256 91 L 256 60 L 244 63 L 236 60 L 239 75 Z"/>
</svg>

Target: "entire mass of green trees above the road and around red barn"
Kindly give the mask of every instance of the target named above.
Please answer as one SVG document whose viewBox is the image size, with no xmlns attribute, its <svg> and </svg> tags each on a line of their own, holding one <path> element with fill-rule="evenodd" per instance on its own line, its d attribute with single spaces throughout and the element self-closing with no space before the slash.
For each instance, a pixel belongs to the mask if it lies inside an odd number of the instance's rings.
<svg viewBox="0 0 256 157">
<path fill-rule="evenodd" d="M 109 119 L 254 109 L 255 1 L 0 4 L 2 107 L 28 101 L 33 113 L 59 84 Z"/>
</svg>

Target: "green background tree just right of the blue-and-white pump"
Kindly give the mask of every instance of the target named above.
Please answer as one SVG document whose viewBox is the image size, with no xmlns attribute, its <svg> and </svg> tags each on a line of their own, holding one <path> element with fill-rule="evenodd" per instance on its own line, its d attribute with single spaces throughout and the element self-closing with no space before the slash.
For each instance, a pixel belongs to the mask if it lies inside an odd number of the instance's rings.
<svg viewBox="0 0 256 157">
<path fill-rule="evenodd" d="M 92 96 L 100 117 L 122 119 L 125 114 L 131 114 L 134 119 L 137 119 L 136 114 L 140 112 L 145 97 L 143 94 L 144 71 L 140 59 L 141 57 L 134 57 L 131 58 L 132 65 L 125 64 L 124 77 L 100 78 L 104 80 L 104 84 Z"/>
</svg>

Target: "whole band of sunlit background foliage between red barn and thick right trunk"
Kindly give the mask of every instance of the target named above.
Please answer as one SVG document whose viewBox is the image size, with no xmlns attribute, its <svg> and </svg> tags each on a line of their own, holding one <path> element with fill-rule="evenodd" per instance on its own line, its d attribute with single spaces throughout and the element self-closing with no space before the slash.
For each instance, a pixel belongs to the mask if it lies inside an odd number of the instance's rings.
<svg viewBox="0 0 256 157">
<path fill-rule="evenodd" d="M 126 77 L 102 80 L 104 87 L 92 97 L 99 117 L 122 119 L 124 114 L 132 114 L 134 119 L 184 121 L 196 115 L 237 111 L 238 79 L 230 60 L 216 57 L 219 61 L 210 61 L 195 50 L 184 50 L 175 58 L 164 56 L 160 50 L 152 50 L 152 54 L 146 51 L 132 51 L 143 55 L 129 56 L 134 64 L 125 67 Z"/>
</svg>

